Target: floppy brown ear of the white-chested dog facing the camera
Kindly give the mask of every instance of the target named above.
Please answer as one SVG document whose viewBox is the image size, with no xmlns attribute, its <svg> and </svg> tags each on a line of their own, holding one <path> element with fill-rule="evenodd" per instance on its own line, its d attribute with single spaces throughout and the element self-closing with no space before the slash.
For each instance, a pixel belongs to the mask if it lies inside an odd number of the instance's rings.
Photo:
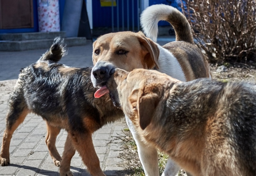
<svg viewBox="0 0 256 176">
<path fill-rule="evenodd" d="M 153 68 L 153 66 L 156 65 L 156 68 L 159 68 L 157 60 L 159 58 L 160 51 L 157 44 L 155 44 L 150 38 L 147 38 L 142 32 L 138 33 L 140 35 L 140 44 L 148 51 L 144 57 L 147 67 Z"/>
</svg>

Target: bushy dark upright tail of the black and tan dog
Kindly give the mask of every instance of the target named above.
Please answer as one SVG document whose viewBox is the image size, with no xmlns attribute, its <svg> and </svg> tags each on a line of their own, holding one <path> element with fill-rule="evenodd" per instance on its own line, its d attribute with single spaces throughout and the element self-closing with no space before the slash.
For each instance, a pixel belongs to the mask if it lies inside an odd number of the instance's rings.
<svg viewBox="0 0 256 176">
<path fill-rule="evenodd" d="M 58 62 L 66 54 L 67 51 L 64 39 L 56 37 L 53 41 L 50 50 L 46 51 L 38 61 L 51 60 L 53 62 Z"/>
</svg>

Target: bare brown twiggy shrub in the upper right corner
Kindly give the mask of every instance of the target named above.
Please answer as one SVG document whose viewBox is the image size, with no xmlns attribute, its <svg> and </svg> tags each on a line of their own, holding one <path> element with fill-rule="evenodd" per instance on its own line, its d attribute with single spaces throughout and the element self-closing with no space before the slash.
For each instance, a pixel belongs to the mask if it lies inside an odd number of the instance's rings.
<svg viewBox="0 0 256 176">
<path fill-rule="evenodd" d="M 183 0 L 181 9 L 211 62 L 256 60 L 255 0 Z"/>
</svg>

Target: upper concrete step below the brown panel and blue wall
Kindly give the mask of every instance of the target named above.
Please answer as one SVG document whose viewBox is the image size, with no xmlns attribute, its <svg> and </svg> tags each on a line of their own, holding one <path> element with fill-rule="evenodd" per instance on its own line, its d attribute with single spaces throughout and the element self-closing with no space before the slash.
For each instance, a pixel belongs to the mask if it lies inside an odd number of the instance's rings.
<svg viewBox="0 0 256 176">
<path fill-rule="evenodd" d="M 33 33 L 11 33 L 0 34 L 0 40 L 23 41 L 23 40 L 43 40 L 53 39 L 57 36 L 66 37 L 66 32 L 33 32 Z"/>
</svg>

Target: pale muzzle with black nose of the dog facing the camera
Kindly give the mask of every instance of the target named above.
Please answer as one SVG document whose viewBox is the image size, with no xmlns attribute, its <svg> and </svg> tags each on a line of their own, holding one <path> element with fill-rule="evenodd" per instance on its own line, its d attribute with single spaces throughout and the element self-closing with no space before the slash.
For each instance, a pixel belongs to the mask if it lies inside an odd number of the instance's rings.
<svg viewBox="0 0 256 176">
<path fill-rule="evenodd" d="M 94 87 L 102 87 L 115 72 L 115 66 L 108 62 L 97 62 L 92 68 L 91 79 Z"/>
</svg>

